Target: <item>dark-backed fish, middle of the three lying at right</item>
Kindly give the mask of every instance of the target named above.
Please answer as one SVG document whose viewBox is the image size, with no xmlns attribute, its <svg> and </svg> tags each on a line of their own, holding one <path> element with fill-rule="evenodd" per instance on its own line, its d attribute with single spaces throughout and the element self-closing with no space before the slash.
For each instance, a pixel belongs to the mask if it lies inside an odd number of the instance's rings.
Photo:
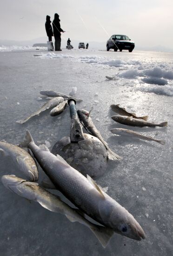
<svg viewBox="0 0 173 256">
<path fill-rule="evenodd" d="M 162 122 L 162 123 L 156 124 L 156 123 L 152 123 L 152 122 L 136 119 L 136 118 L 133 118 L 132 116 L 126 117 L 126 116 L 123 116 L 123 115 L 113 115 L 113 116 L 111 116 L 111 118 L 114 121 L 116 121 L 118 123 L 125 124 L 125 125 L 132 125 L 132 126 L 139 126 L 139 127 L 144 127 L 144 126 L 148 126 L 148 127 L 155 127 L 155 126 L 164 127 L 164 126 L 167 126 L 167 122 Z"/>
</svg>

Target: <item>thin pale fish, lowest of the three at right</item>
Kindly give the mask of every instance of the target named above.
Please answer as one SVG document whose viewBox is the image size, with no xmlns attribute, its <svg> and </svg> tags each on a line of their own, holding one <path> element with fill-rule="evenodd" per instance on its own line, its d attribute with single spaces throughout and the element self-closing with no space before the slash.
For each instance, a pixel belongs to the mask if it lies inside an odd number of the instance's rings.
<svg viewBox="0 0 173 256">
<path fill-rule="evenodd" d="M 145 136 L 145 135 L 142 135 L 140 133 L 137 133 L 137 132 L 133 132 L 131 130 L 128 130 L 128 129 L 123 129 L 123 128 L 114 128 L 114 129 L 111 129 L 111 132 L 113 134 L 116 134 L 116 135 L 123 135 L 123 136 L 126 136 L 126 137 L 134 137 L 134 138 L 138 138 L 140 140 L 144 140 L 144 141 L 156 141 L 162 145 L 165 145 L 165 141 L 163 140 L 156 140 L 152 137 L 149 137 L 149 136 Z"/>
</svg>

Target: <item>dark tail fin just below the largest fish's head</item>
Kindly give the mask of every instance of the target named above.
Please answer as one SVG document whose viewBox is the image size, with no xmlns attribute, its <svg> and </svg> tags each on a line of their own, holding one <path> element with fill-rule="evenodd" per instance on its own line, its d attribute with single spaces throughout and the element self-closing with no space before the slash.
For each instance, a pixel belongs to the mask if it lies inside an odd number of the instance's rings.
<svg viewBox="0 0 173 256">
<path fill-rule="evenodd" d="M 97 227 L 97 228 L 96 228 Z M 90 227 L 93 234 L 100 241 L 101 245 L 105 248 L 111 237 L 113 236 L 113 229 L 102 226 Z"/>
</svg>

